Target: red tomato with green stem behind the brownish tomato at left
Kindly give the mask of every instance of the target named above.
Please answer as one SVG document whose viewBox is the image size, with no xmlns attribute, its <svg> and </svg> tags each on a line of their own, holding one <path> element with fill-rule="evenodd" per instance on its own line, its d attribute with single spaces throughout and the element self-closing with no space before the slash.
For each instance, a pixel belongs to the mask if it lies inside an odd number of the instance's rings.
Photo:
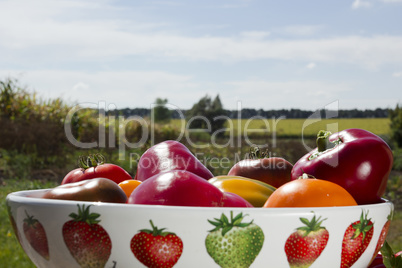
<svg viewBox="0 0 402 268">
<path fill-rule="evenodd" d="M 120 166 L 104 163 L 104 157 L 100 154 L 81 157 L 79 165 L 80 168 L 70 171 L 61 184 L 94 178 L 106 178 L 119 184 L 122 181 L 132 179 L 131 175 Z"/>
</svg>

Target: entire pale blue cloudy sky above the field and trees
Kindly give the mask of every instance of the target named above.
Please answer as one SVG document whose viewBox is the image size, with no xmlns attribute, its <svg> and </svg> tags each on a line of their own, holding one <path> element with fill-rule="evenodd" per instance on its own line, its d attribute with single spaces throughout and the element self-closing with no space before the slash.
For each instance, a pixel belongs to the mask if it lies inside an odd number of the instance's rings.
<svg viewBox="0 0 402 268">
<path fill-rule="evenodd" d="M 0 0 L 0 80 L 107 109 L 395 108 L 402 0 Z"/>
</svg>

